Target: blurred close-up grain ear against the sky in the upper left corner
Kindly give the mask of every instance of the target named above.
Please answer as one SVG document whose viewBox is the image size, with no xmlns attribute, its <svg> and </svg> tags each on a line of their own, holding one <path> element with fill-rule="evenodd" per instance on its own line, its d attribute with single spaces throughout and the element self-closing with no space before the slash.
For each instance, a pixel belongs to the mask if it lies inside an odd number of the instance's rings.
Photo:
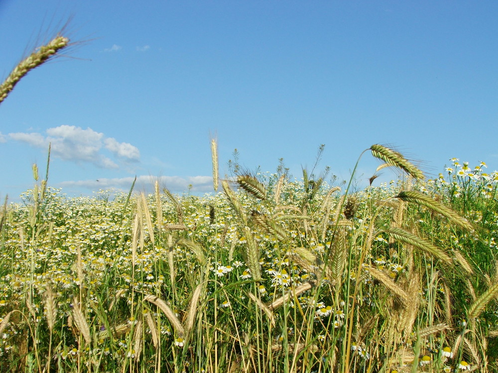
<svg viewBox="0 0 498 373">
<path fill-rule="evenodd" d="M 47 61 L 50 57 L 54 56 L 59 50 L 65 48 L 69 43 L 69 39 L 57 35 L 48 44 L 43 45 L 28 57 L 22 60 L 15 68 L 12 70 L 10 75 L 5 79 L 5 81 L 0 86 L 0 102 L 2 102 L 5 97 L 14 89 L 14 86 L 19 82 L 19 80 L 25 76 L 30 70 L 40 66 L 42 63 Z"/>
</svg>

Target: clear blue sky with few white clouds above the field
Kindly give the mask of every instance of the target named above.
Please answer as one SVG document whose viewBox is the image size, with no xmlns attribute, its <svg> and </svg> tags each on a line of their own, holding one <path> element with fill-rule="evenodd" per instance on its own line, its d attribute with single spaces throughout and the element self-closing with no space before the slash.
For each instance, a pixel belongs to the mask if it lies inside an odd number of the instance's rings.
<svg viewBox="0 0 498 373">
<path fill-rule="evenodd" d="M 210 134 L 222 176 L 237 148 L 299 178 L 321 144 L 340 180 L 375 143 L 429 176 L 452 157 L 498 168 L 496 1 L 1 0 L 1 80 L 70 16 L 71 50 L 0 104 L 2 199 L 32 187 L 49 142 L 49 185 L 70 195 L 135 175 L 212 191 Z"/>
</svg>

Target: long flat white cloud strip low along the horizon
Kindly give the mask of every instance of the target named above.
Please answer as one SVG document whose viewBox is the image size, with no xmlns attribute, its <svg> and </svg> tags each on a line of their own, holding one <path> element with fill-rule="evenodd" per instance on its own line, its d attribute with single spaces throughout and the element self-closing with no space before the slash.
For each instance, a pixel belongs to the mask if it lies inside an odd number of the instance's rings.
<svg viewBox="0 0 498 373">
<path fill-rule="evenodd" d="M 124 190 L 128 191 L 133 184 L 134 177 L 106 179 L 99 178 L 98 180 L 79 180 L 79 181 L 66 181 L 59 183 L 58 186 L 63 188 L 86 188 L 94 191 L 97 190 Z M 154 184 L 159 181 L 161 187 L 167 187 L 173 193 L 181 193 L 188 190 L 189 185 L 192 190 L 198 193 L 205 193 L 213 191 L 213 177 L 212 176 L 138 176 L 135 182 L 135 191 L 145 191 L 151 193 L 154 190 Z"/>
</svg>

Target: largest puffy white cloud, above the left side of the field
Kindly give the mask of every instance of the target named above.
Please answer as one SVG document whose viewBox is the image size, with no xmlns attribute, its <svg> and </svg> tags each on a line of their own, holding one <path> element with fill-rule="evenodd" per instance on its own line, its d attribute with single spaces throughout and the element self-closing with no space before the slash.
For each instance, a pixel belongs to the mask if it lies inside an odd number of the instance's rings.
<svg viewBox="0 0 498 373">
<path fill-rule="evenodd" d="M 39 133 L 9 133 L 12 140 L 25 142 L 33 147 L 47 149 L 51 144 L 51 153 L 66 161 L 87 162 L 105 169 L 117 169 L 118 164 L 102 154 L 108 149 L 119 159 L 138 162 L 139 150 L 131 144 L 119 143 L 115 138 L 106 138 L 103 133 L 91 128 L 61 125 L 46 130 L 48 136 Z"/>
</svg>

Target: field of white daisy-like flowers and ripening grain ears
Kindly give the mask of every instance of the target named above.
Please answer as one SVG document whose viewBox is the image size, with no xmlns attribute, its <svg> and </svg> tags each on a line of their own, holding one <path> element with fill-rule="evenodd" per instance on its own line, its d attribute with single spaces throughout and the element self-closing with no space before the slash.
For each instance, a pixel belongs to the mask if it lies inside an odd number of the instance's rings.
<svg viewBox="0 0 498 373">
<path fill-rule="evenodd" d="M 69 198 L 35 167 L 0 215 L 0 371 L 498 372 L 498 174 L 385 149 L 407 176 L 356 192 Z"/>
</svg>

